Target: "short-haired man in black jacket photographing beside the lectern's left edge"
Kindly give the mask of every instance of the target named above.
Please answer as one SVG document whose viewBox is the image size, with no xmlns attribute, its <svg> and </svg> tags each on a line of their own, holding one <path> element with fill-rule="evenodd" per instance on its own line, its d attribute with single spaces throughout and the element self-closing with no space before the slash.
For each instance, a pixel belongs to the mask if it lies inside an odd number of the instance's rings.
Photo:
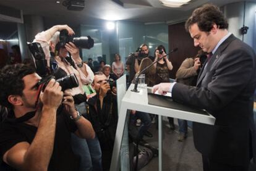
<svg viewBox="0 0 256 171">
<path fill-rule="evenodd" d="M 92 83 L 96 96 L 88 100 L 88 119 L 100 140 L 103 170 L 109 170 L 117 126 L 116 87 L 107 82 L 102 72 L 96 72 Z"/>
</svg>

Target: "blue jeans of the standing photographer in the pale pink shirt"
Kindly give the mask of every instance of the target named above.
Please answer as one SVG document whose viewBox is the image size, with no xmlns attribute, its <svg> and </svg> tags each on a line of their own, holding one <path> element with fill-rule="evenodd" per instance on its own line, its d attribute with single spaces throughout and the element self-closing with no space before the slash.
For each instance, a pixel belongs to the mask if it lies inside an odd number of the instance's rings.
<svg viewBox="0 0 256 171">
<path fill-rule="evenodd" d="M 86 115 L 85 103 L 81 103 L 75 107 L 80 114 Z M 101 164 L 100 142 L 96 136 L 94 139 L 82 139 L 72 133 L 71 146 L 74 153 L 80 156 L 79 170 L 103 170 Z"/>
</svg>

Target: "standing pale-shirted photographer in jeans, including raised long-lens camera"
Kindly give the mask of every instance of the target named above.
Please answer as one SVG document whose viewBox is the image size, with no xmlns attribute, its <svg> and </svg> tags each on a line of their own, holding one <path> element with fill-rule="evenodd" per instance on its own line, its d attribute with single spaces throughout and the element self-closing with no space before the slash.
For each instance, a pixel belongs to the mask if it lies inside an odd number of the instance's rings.
<svg viewBox="0 0 256 171">
<path fill-rule="evenodd" d="M 42 48 L 40 49 L 40 45 L 35 43 L 30 45 L 30 50 L 36 59 L 37 70 L 47 68 L 46 72 L 48 73 L 42 72 L 43 69 L 39 70 L 39 73 L 54 75 L 58 79 L 68 75 L 74 75 L 77 78 L 78 86 L 67 91 L 72 94 L 75 107 L 80 114 L 87 117 L 85 107 L 87 96 L 83 91 L 83 86 L 92 83 L 94 75 L 90 67 L 82 62 L 79 48 L 90 49 L 94 43 L 90 36 L 74 38 L 72 35 L 74 35 L 74 31 L 69 26 L 56 25 L 35 36 L 35 41 L 40 43 L 44 52 L 41 52 Z M 46 51 L 48 49 L 51 53 Z M 45 54 L 45 57 L 38 57 L 38 54 Z M 47 67 L 42 67 L 42 65 L 46 65 L 43 60 L 48 61 L 47 56 L 50 56 Z M 102 170 L 98 138 L 85 140 L 71 134 L 71 143 L 74 153 L 81 159 L 79 170 Z"/>
</svg>

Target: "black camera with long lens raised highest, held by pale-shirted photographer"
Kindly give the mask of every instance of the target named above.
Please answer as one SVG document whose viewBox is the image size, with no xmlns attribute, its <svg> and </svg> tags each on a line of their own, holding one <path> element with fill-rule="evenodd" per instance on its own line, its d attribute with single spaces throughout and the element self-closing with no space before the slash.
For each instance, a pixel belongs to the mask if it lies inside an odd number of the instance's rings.
<svg viewBox="0 0 256 171">
<path fill-rule="evenodd" d="M 64 47 L 66 43 L 72 42 L 77 48 L 90 49 L 94 45 L 94 40 L 90 36 L 73 37 L 69 36 L 67 30 L 61 30 L 59 33 L 58 46 Z"/>
</svg>

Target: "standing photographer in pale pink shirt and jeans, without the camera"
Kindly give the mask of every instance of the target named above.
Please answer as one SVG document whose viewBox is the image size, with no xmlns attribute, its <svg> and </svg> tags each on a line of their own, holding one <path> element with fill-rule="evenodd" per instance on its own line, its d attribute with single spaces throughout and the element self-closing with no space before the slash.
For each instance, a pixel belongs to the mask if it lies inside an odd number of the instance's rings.
<svg viewBox="0 0 256 171">
<path fill-rule="evenodd" d="M 56 78 L 62 78 L 72 73 L 75 74 L 79 86 L 68 91 L 74 97 L 77 110 L 86 117 L 85 102 L 87 101 L 87 96 L 83 91 L 83 86 L 92 83 L 93 72 L 87 64 L 82 62 L 79 56 L 79 48 L 74 43 L 66 43 L 66 40 L 69 40 L 69 33 L 74 34 L 74 32 L 70 31 L 72 29 L 67 25 L 59 27 L 58 30 L 61 32 L 56 31 L 54 28 L 52 27 L 49 31 L 46 30 L 39 33 L 42 38 L 45 35 L 45 41 L 46 38 L 49 38 L 49 33 L 53 33 L 53 36 L 48 41 L 48 48 L 51 49 L 51 54 L 54 56 L 51 69 L 54 70 L 53 74 Z M 65 30 L 67 30 L 67 34 L 64 32 Z M 54 33 L 54 31 L 56 32 Z M 77 138 L 74 134 L 71 136 L 72 149 L 81 159 L 79 170 L 102 170 L 101 149 L 98 139 L 95 137 L 93 140 L 84 140 Z"/>
</svg>

